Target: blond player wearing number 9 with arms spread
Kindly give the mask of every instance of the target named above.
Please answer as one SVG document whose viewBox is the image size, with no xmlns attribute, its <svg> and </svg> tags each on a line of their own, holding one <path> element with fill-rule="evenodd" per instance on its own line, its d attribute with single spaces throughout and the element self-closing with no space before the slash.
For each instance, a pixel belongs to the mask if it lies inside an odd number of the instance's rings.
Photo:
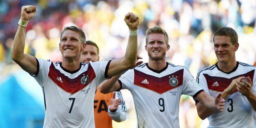
<svg viewBox="0 0 256 128">
<path fill-rule="evenodd" d="M 120 87 L 132 93 L 139 128 L 179 127 L 179 101 L 181 94 L 199 99 L 211 109 L 223 110 L 224 99 L 207 95 L 184 66 L 166 62 L 170 49 L 168 35 L 159 26 L 146 31 L 148 63 L 126 71 L 103 82 L 102 93 L 113 92 Z"/>
</svg>

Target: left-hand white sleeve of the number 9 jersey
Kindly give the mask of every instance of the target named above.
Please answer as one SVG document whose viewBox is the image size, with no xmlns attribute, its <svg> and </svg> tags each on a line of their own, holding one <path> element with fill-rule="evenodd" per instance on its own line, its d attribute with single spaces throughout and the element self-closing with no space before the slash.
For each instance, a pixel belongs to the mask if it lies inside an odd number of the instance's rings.
<svg viewBox="0 0 256 128">
<path fill-rule="evenodd" d="M 134 81 L 134 70 L 133 69 L 126 71 L 118 79 L 118 82 L 121 85 L 122 89 L 128 89 L 128 90 L 131 90 L 133 88 L 133 81 Z"/>
</svg>

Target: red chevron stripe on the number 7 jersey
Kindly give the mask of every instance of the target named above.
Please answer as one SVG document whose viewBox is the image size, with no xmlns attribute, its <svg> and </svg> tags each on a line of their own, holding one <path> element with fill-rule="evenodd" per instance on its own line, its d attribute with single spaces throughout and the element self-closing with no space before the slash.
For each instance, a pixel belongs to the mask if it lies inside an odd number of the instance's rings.
<svg viewBox="0 0 256 128">
<path fill-rule="evenodd" d="M 82 84 L 81 79 L 83 76 L 89 76 L 89 82 L 87 84 Z M 50 66 L 49 74 L 48 76 L 53 80 L 53 82 L 65 90 L 68 93 L 74 94 L 78 92 L 79 90 L 82 90 L 85 86 L 90 84 L 90 82 L 93 81 L 93 79 L 96 77 L 95 72 L 93 70 L 93 67 L 89 64 L 87 71 L 80 74 L 78 77 L 74 79 L 68 78 L 66 75 L 62 74 L 59 70 L 57 70 L 53 63 Z"/>
</svg>

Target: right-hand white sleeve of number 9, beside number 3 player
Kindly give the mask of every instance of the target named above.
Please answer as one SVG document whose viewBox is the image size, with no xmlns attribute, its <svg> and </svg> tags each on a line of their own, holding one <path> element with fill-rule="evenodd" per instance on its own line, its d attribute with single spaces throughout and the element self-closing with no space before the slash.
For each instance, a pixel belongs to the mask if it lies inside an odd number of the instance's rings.
<svg viewBox="0 0 256 128">
<path fill-rule="evenodd" d="M 188 71 L 188 69 L 184 68 L 182 94 L 190 95 L 194 98 L 202 91 L 203 91 L 203 89 L 199 86 L 199 84 L 193 78 L 193 76 Z"/>
</svg>

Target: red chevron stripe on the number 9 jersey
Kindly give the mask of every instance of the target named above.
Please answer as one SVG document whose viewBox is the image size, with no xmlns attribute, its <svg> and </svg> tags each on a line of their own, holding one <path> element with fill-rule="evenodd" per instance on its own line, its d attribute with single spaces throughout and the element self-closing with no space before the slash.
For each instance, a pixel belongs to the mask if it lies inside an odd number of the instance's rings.
<svg viewBox="0 0 256 128">
<path fill-rule="evenodd" d="M 178 80 L 177 86 L 170 85 L 169 81 L 172 77 L 175 77 Z M 183 69 L 161 78 L 134 69 L 134 84 L 162 94 L 183 84 Z"/>
</svg>

